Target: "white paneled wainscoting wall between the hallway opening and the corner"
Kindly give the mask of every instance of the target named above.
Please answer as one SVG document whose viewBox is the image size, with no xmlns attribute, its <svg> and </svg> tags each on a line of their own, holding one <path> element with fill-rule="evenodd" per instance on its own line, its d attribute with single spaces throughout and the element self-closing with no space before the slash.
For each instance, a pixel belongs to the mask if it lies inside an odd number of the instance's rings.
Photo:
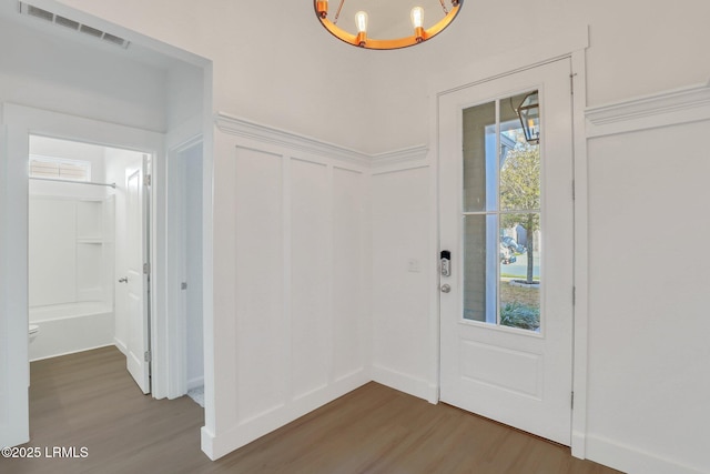
<svg viewBox="0 0 710 474">
<path fill-rule="evenodd" d="M 366 157 L 227 115 L 216 125 L 212 458 L 371 380 Z"/>
</svg>

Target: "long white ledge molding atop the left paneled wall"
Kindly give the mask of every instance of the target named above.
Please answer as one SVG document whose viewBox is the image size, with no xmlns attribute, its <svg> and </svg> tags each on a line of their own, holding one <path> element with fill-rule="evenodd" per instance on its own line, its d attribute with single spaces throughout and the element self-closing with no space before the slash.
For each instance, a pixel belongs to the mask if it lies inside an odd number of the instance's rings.
<svg viewBox="0 0 710 474">
<path fill-rule="evenodd" d="M 251 122 L 239 117 L 230 115 L 229 113 L 217 112 L 214 121 L 216 128 L 223 133 L 335 159 L 359 167 L 369 167 L 372 161 L 368 154 L 357 150 L 339 147 L 273 127 L 263 125 L 261 123 Z"/>
</svg>

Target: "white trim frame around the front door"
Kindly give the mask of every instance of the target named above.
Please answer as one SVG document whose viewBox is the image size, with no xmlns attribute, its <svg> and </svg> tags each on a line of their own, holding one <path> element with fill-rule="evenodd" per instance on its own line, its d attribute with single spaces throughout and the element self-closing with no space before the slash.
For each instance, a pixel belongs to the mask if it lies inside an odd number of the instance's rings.
<svg viewBox="0 0 710 474">
<path fill-rule="evenodd" d="M 430 189 L 433 192 L 432 213 L 433 229 L 430 255 L 436 259 L 439 251 L 439 157 L 438 157 L 438 113 L 439 97 L 449 92 L 471 87 L 476 83 L 496 80 L 526 69 L 536 68 L 545 63 L 569 58 L 572 69 L 570 88 L 572 93 L 572 167 L 575 180 L 574 200 L 574 285 L 575 305 L 572 323 L 572 392 L 574 406 L 571 415 L 571 454 L 575 457 L 586 457 L 587 436 L 587 361 L 588 361 L 588 184 L 587 184 L 587 135 L 585 110 L 587 108 L 587 74 L 586 49 L 589 48 L 588 26 L 574 26 L 567 31 L 547 37 L 525 50 L 516 50 L 505 56 L 497 56 L 487 60 L 459 68 L 455 73 L 448 71 L 446 75 L 436 78 L 428 90 L 429 117 L 429 159 L 433 167 L 430 173 Z M 570 190 L 572 192 L 572 190 Z M 438 269 L 438 259 L 434 268 Z M 429 288 L 430 314 L 429 321 L 429 376 L 436 384 L 436 399 L 430 403 L 438 403 L 440 389 L 440 292 L 438 271 L 432 272 Z M 570 401 L 571 402 L 571 401 Z"/>
</svg>

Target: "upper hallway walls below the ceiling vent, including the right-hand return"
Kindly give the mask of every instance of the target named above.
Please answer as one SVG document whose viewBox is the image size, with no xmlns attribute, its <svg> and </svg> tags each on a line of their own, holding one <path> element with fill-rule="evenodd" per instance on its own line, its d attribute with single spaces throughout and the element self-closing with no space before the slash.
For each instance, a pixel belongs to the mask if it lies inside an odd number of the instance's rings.
<svg viewBox="0 0 710 474">
<path fill-rule="evenodd" d="M 138 46 L 94 44 L 61 27 L 20 19 L 24 22 L 0 16 L 0 102 L 159 132 L 202 115 L 201 68 Z"/>
</svg>

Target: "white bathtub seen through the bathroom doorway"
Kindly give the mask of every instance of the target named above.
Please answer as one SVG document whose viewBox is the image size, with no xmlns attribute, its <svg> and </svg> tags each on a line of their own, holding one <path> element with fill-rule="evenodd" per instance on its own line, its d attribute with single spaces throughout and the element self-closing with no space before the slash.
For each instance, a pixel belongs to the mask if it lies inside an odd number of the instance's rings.
<svg viewBox="0 0 710 474">
<path fill-rule="evenodd" d="M 40 327 L 30 344 L 30 361 L 113 345 L 113 307 L 82 302 L 30 307 L 30 324 Z"/>
</svg>

